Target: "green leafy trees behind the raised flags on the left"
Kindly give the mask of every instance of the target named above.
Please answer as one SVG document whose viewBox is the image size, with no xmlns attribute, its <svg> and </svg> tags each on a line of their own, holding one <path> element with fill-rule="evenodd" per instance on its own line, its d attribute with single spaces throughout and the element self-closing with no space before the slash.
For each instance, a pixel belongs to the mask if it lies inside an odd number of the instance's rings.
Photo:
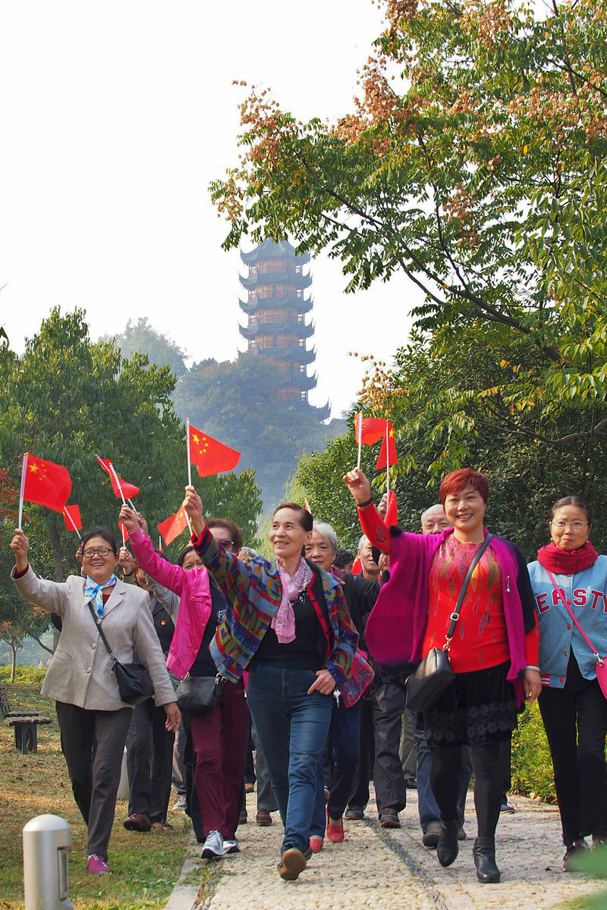
<svg viewBox="0 0 607 910">
<path fill-rule="evenodd" d="M 56 461 L 69 470 L 70 502 L 80 506 L 85 527 L 116 528 L 120 505 L 95 455 L 113 461 L 118 474 L 136 483 L 135 504 L 154 526 L 178 510 L 187 482 L 185 430 L 173 408 L 175 378 L 169 366 L 147 356 L 122 359 L 111 341 L 92 343 L 81 311 L 62 317 L 53 310 L 22 358 L 0 357 L 0 410 L 11 410 L 12 430 L 0 440 L 0 459 L 18 483 L 21 453 Z M 252 534 L 260 511 L 252 472 L 212 477 L 199 484 L 209 512 L 231 509 L 228 517 Z M 36 571 L 63 579 L 77 571 L 75 533 L 62 517 L 28 506 L 36 537 Z M 171 551 L 178 551 L 175 541 Z"/>
</svg>

